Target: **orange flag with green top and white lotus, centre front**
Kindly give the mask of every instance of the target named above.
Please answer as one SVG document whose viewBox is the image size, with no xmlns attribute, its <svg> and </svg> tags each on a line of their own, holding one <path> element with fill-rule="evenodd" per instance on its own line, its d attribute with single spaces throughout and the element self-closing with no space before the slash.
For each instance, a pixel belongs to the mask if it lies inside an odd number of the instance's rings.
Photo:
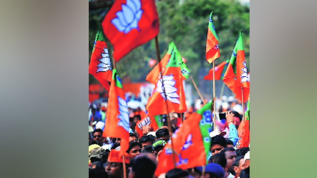
<svg viewBox="0 0 317 178">
<path fill-rule="evenodd" d="M 150 116 L 168 114 L 168 112 L 182 113 L 187 111 L 180 60 L 181 57 L 177 57 L 176 51 L 173 50 L 170 60 L 157 81 L 152 96 L 146 105 L 146 110 Z M 163 87 L 165 88 L 166 98 Z"/>
</svg>

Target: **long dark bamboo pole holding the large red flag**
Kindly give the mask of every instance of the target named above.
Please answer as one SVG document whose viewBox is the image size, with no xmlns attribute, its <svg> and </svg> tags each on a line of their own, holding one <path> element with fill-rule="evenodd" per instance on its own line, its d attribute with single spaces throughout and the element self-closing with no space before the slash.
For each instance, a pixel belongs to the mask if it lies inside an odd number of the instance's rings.
<svg viewBox="0 0 317 178">
<path fill-rule="evenodd" d="M 163 75 L 162 72 L 162 65 L 161 65 L 161 57 L 159 54 L 159 39 L 158 36 L 155 36 L 155 49 L 156 49 L 156 55 L 158 57 L 158 63 L 159 63 L 159 70 L 161 72 L 161 74 Z M 162 76 L 162 86 L 163 86 L 163 92 L 164 92 L 164 97 L 165 97 L 165 104 L 166 104 L 166 111 L 167 111 L 167 125 L 168 125 L 168 130 L 170 133 L 172 133 L 172 127 L 171 127 L 171 118 L 170 118 L 170 114 L 168 111 L 168 106 L 167 106 L 167 100 L 166 100 L 166 92 L 165 92 L 165 86 L 164 86 L 164 80 L 163 80 L 163 76 Z M 173 146 L 173 140 L 171 140 L 171 146 L 172 146 L 172 150 L 174 150 L 174 146 Z M 176 161 L 175 161 L 175 155 L 173 154 L 173 162 L 174 162 L 174 168 L 176 168 Z"/>
</svg>

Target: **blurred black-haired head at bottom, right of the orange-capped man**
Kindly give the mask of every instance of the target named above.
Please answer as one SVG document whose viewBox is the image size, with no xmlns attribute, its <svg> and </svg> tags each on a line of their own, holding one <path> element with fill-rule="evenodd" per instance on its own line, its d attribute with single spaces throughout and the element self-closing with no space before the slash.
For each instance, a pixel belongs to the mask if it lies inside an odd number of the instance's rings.
<svg viewBox="0 0 317 178">
<path fill-rule="evenodd" d="M 153 177 L 156 169 L 156 163 L 146 155 L 133 158 L 130 165 L 137 178 Z"/>
</svg>

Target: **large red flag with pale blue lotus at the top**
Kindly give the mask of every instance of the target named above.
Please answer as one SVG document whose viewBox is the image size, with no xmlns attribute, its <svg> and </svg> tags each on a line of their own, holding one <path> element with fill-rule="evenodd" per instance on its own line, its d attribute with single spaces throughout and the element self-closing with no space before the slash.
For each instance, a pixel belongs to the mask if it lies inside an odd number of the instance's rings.
<svg viewBox="0 0 317 178">
<path fill-rule="evenodd" d="M 119 61 L 134 48 L 159 34 L 154 0 L 116 0 L 101 23 Z"/>
</svg>

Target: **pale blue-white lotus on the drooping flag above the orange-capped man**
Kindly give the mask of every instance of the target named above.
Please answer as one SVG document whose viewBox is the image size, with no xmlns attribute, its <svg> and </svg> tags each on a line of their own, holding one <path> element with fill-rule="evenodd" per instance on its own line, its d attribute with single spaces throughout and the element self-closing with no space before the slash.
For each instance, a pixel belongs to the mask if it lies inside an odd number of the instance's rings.
<svg viewBox="0 0 317 178">
<path fill-rule="evenodd" d="M 120 97 L 118 97 L 118 104 L 120 112 L 120 114 L 117 116 L 120 119 L 118 125 L 123 127 L 124 130 L 126 130 L 127 132 L 129 132 L 130 124 L 128 106 L 126 104 L 126 101 L 124 99 L 121 99 Z"/>
</svg>

